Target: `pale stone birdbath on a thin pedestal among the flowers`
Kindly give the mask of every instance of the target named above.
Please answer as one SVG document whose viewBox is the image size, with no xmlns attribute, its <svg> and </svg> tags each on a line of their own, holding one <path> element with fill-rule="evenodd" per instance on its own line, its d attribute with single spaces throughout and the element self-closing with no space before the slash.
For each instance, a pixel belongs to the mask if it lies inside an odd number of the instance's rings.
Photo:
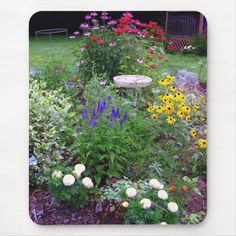
<svg viewBox="0 0 236 236">
<path fill-rule="evenodd" d="M 114 83 L 119 88 L 133 89 L 133 106 L 138 103 L 138 89 L 148 87 L 152 79 L 143 75 L 118 75 L 113 77 Z"/>
</svg>

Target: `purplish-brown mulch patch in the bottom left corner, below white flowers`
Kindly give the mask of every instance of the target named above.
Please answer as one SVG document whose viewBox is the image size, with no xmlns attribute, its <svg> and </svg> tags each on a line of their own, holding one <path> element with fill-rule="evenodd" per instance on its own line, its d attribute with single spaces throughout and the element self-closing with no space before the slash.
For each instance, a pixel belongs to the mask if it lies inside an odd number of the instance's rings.
<svg viewBox="0 0 236 236">
<path fill-rule="evenodd" d="M 65 204 L 59 204 L 47 190 L 30 190 L 29 214 L 40 225 L 54 224 L 122 224 L 121 214 L 114 206 L 102 206 L 102 212 L 96 213 L 96 204 L 89 203 L 79 210 L 71 210 Z"/>
</svg>

